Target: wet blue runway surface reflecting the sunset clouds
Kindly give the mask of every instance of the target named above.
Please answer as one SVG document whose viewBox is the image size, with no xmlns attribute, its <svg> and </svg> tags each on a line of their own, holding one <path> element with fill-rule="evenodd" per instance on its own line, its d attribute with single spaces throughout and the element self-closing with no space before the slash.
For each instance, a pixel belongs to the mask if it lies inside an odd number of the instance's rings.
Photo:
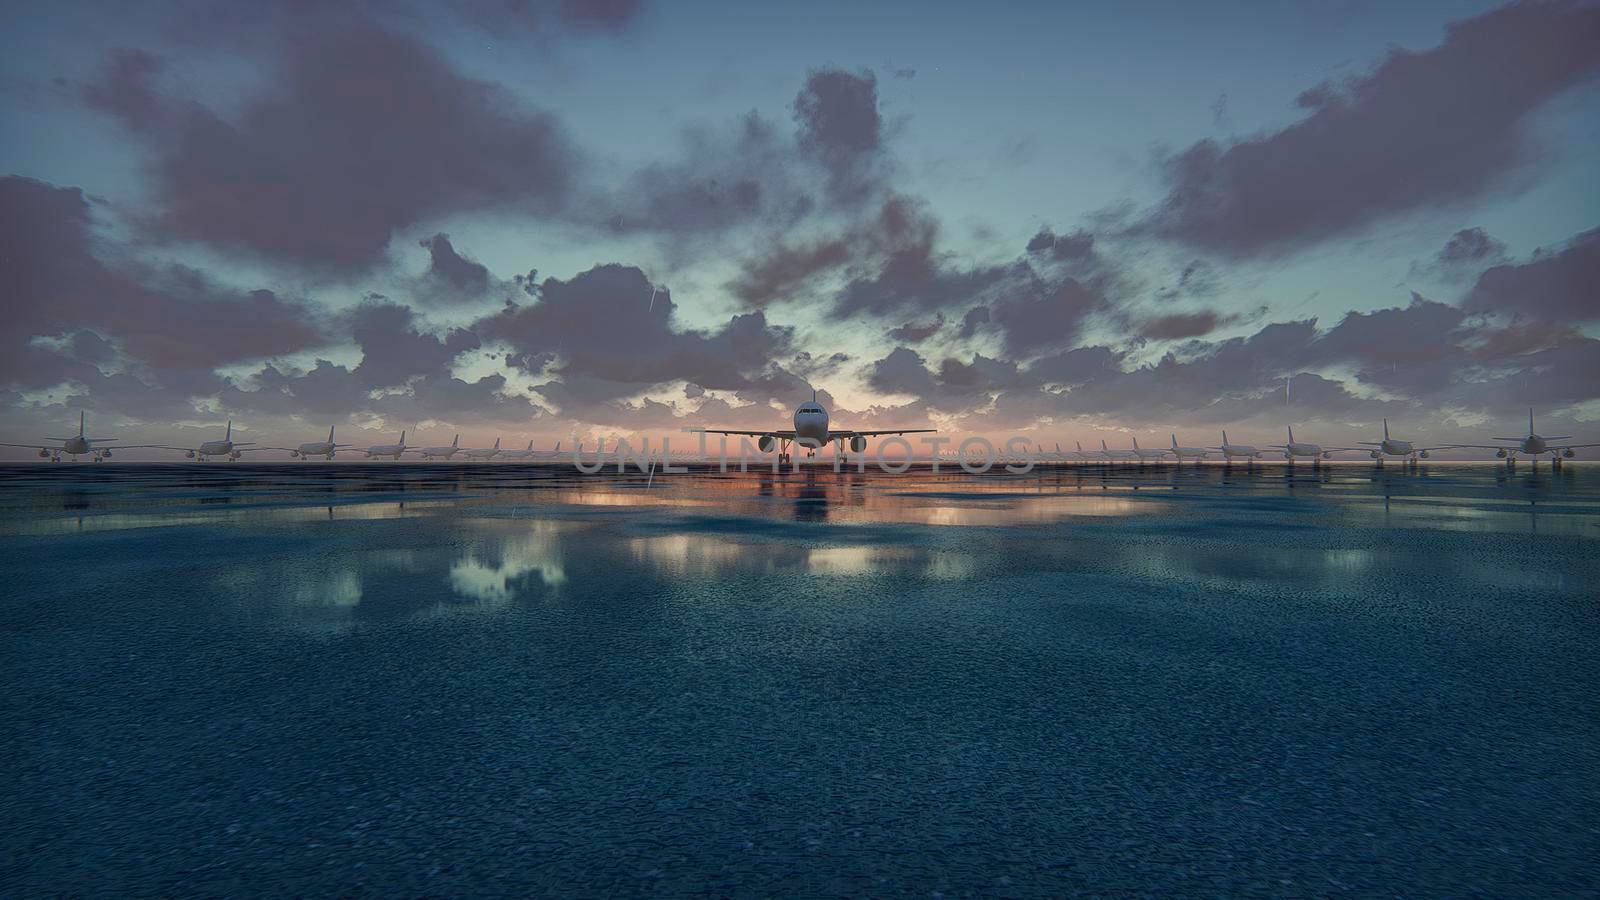
<svg viewBox="0 0 1600 900">
<path fill-rule="evenodd" d="M 1600 884 L 1594 466 L 30 464 L 0 560 L 6 895 Z"/>
</svg>

